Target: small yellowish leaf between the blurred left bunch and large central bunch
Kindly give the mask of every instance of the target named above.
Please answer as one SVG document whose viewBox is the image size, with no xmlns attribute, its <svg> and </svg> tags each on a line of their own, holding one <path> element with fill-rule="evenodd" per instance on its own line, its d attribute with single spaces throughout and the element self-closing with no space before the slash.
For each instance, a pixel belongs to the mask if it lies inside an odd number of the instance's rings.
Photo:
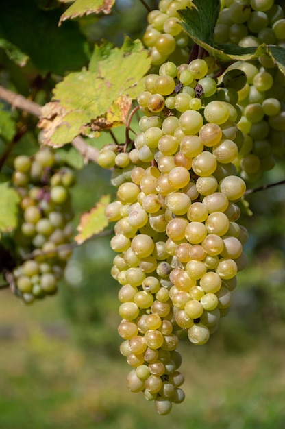
<svg viewBox="0 0 285 429">
<path fill-rule="evenodd" d="M 91 236 L 99 234 L 108 225 L 104 212 L 106 206 L 110 203 L 110 195 L 102 195 L 94 208 L 88 213 L 84 213 L 77 226 L 79 234 L 75 236 L 75 241 L 78 244 L 84 243 Z"/>
</svg>

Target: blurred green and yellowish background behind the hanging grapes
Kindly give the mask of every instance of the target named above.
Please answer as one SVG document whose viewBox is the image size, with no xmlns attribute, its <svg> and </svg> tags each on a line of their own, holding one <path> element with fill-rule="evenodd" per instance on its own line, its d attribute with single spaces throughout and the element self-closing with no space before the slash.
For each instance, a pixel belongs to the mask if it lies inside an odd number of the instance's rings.
<svg viewBox="0 0 285 429">
<path fill-rule="evenodd" d="M 116 4 L 112 16 L 82 19 L 90 42 L 103 34 L 120 45 L 126 30 L 142 34 L 143 6 Z M 2 83 L 11 80 L 28 92 L 29 70 L 17 69 L 2 51 L 0 58 Z M 256 186 L 283 178 L 284 165 Z M 114 192 L 109 172 L 95 165 L 79 171 L 77 182 L 74 225 L 102 193 Z M 186 400 L 171 415 L 158 416 L 151 402 L 125 387 L 129 367 L 119 353 L 119 285 L 110 276 L 110 237 L 75 249 L 55 297 L 24 306 L 1 291 L 0 428 L 284 429 L 284 195 L 283 185 L 248 197 L 254 216 L 240 219 L 250 234 L 248 267 L 238 275 L 229 315 L 208 344 L 180 342 Z"/>
</svg>

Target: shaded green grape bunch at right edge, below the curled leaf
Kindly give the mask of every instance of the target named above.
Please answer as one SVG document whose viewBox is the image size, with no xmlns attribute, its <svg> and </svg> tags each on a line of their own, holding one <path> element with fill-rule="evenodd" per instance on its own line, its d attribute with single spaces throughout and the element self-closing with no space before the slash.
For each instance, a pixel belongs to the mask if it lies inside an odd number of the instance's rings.
<svg viewBox="0 0 285 429">
<path fill-rule="evenodd" d="M 243 179 L 254 181 L 285 154 L 285 77 L 277 67 L 254 62 L 236 62 L 235 67 L 247 75 L 237 101 L 242 112 L 238 129 L 245 141 L 235 164 Z"/>
</svg>

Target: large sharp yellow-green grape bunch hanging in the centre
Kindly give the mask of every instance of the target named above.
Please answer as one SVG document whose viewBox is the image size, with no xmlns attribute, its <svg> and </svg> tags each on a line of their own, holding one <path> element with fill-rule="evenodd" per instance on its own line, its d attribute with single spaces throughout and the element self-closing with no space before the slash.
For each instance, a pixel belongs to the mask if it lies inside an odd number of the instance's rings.
<svg viewBox="0 0 285 429">
<path fill-rule="evenodd" d="M 247 77 L 230 70 L 218 88 L 207 73 L 196 59 L 147 75 L 140 134 L 128 151 L 106 145 L 98 158 L 118 188 L 106 218 L 115 222 L 111 273 L 121 284 L 121 353 L 133 368 L 127 386 L 160 414 L 184 400 L 179 332 L 208 341 L 247 263 L 236 204 L 245 182 L 233 164 L 244 144 L 236 101 Z"/>
</svg>

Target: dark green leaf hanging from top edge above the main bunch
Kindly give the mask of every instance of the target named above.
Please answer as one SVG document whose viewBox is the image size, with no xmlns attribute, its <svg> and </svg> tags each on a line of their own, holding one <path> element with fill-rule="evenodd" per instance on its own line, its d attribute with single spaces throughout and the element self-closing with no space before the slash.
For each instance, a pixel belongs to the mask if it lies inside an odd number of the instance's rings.
<svg viewBox="0 0 285 429">
<path fill-rule="evenodd" d="M 190 37 L 213 45 L 214 27 L 221 8 L 220 0 L 193 0 L 193 7 L 179 10 L 182 26 Z"/>
</svg>

